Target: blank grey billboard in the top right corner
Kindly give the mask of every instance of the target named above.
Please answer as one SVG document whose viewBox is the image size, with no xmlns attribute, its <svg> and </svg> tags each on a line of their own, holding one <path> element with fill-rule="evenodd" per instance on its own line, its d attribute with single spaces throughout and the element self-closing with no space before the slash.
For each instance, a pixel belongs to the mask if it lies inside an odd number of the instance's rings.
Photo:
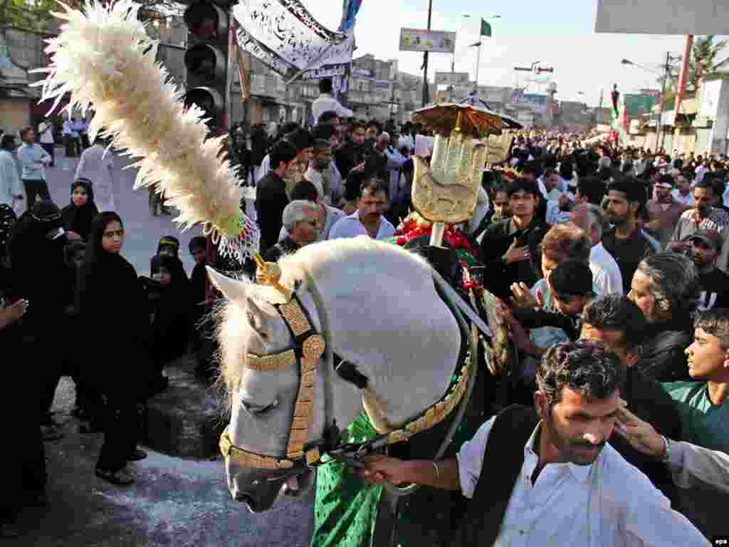
<svg viewBox="0 0 729 547">
<path fill-rule="evenodd" d="M 726 0 L 597 0 L 595 32 L 726 34 Z"/>
</svg>

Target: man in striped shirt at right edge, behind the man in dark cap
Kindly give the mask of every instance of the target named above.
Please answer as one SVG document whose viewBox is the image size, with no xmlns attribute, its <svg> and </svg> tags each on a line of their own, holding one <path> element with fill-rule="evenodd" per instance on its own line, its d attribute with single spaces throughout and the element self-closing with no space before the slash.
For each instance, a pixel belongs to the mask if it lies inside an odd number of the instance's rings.
<svg viewBox="0 0 729 547">
<path fill-rule="evenodd" d="M 724 271 L 729 263 L 729 214 L 712 207 L 716 188 L 710 181 L 697 182 L 693 187 L 693 209 L 685 211 L 673 236 L 668 243 L 668 250 L 687 252 L 690 249 L 689 237 L 697 230 L 716 230 L 722 235 L 722 252 L 717 258 L 717 268 Z"/>
</svg>

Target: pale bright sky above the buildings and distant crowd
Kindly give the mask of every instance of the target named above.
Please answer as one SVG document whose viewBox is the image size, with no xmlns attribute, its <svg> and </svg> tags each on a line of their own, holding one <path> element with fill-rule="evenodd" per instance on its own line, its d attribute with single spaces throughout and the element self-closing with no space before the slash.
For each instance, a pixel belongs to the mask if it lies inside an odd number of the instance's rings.
<svg viewBox="0 0 729 547">
<path fill-rule="evenodd" d="M 473 79 L 476 48 L 468 46 L 478 40 L 480 18 L 501 15 L 489 20 L 492 37 L 483 38 L 480 85 L 526 85 L 524 80 L 530 75 L 517 73 L 513 67 L 541 61 L 540 65 L 554 68 L 550 77 L 557 84 L 558 100 L 589 106 L 599 104 L 601 90 L 607 106 L 614 83 L 622 93 L 658 88 L 655 74 L 620 61 L 627 58 L 660 71 L 666 52 L 681 55 L 685 44 L 684 36 L 596 34 L 596 0 L 432 2 L 431 28 L 458 33 L 456 72 L 468 71 Z M 303 4 L 327 28 L 338 27 L 341 0 L 303 0 Z M 355 26 L 354 57 L 371 53 L 384 60 L 396 58 L 399 70 L 422 74 L 423 54 L 398 51 L 399 31 L 402 27 L 426 28 L 427 14 L 428 0 L 362 0 Z M 447 53 L 429 54 L 429 79 L 432 81 L 435 71 L 450 71 L 452 61 Z"/>
</svg>

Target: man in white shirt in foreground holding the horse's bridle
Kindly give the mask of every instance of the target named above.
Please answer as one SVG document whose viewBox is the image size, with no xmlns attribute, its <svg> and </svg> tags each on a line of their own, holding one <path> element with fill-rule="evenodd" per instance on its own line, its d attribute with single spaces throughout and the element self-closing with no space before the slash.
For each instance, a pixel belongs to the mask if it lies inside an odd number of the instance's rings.
<svg viewBox="0 0 729 547">
<path fill-rule="evenodd" d="M 537 368 L 536 413 L 507 408 L 457 457 L 369 457 L 359 474 L 461 490 L 471 502 L 451 543 L 459 547 L 709 546 L 607 443 L 624 380 L 625 365 L 601 342 L 558 344 Z"/>
</svg>

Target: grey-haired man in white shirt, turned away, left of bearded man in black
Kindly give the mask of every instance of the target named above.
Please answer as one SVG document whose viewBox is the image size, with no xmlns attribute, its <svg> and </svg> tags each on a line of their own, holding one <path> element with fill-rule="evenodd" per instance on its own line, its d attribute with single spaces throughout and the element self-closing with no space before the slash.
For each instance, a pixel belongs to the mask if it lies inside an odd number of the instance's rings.
<svg viewBox="0 0 729 547">
<path fill-rule="evenodd" d="M 600 295 L 623 295 L 623 276 L 615 258 L 610 255 L 602 244 L 602 233 L 605 220 L 599 206 L 580 205 L 572 209 L 569 220 L 588 234 L 592 241 L 590 249 L 590 270 L 593 273 L 593 282 Z"/>
</svg>

